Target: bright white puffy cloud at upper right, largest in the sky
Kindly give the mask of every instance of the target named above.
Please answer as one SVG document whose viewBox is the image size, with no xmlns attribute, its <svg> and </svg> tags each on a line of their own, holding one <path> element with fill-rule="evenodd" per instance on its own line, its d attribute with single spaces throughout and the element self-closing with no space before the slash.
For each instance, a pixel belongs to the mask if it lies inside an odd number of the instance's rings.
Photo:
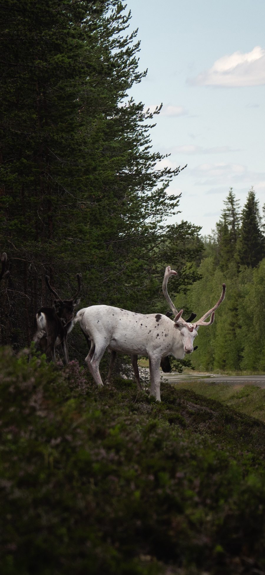
<svg viewBox="0 0 265 575">
<path fill-rule="evenodd" d="M 265 49 L 256 46 L 251 52 L 234 52 L 213 64 L 189 81 L 197 86 L 262 86 L 265 84 Z"/>
</svg>

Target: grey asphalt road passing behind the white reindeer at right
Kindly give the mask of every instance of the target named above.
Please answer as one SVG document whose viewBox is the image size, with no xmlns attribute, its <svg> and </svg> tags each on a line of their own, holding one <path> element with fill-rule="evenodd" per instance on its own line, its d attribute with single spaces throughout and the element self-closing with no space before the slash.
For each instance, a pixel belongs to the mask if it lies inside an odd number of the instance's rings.
<svg viewBox="0 0 265 575">
<path fill-rule="evenodd" d="M 231 384 L 231 385 L 258 385 L 265 388 L 265 375 L 218 375 L 218 374 L 183 374 L 183 373 L 163 373 L 162 381 L 171 384 L 179 384 L 182 381 L 208 381 L 211 384 Z"/>
</svg>

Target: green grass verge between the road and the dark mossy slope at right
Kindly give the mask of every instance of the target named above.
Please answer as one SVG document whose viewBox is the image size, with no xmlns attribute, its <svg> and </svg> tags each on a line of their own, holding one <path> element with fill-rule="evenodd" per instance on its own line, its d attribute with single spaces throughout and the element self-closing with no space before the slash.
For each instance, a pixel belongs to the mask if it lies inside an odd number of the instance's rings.
<svg viewBox="0 0 265 575">
<path fill-rule="evenodd" d="M 205 381 L 180 381 L 177 388 L 192 392 L 212 400 L 220 401 L 241 413 L 256 417 L 265 422 L 265 389 L 256 385 L 213 384 Z"/>
</svg>

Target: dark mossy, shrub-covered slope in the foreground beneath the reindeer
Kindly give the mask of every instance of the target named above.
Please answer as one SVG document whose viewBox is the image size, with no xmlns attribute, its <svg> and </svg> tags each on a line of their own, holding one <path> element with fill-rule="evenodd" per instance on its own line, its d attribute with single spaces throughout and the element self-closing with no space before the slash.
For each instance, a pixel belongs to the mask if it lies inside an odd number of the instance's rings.
<svg viewBox="0 0 265 575">
<path fill-rule="evenodd" d="M 265 425 L 0 354 L 2 575 L 265 572 Z"/>
</svg>

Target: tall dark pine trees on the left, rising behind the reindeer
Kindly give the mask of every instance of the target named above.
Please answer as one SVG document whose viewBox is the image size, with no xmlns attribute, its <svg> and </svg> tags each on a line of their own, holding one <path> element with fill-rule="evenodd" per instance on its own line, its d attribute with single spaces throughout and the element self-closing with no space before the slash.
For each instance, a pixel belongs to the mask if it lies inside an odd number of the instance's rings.
<svg viewBox="0 0 265 575">
<path fill-rule="evenodd" d="M 181 271 L 176 290 L 198 277 L 189 262 L 202 251 L 200 228 L 165 226 L 180 200 L 167 186 L 182 168 L 159 168 L 164 156 L 151 147 L 160 108 L 128 97 L 146 74 L 129 23 L 119 0 L 2 2 L 0 252 L 10 275 L 0 343 L 14 349 L 52 302 L 46 273 L 61 297 L 81 273 L 81 305 L 141 312 L 167 309 L 167 264 Z"/>
</svg>

